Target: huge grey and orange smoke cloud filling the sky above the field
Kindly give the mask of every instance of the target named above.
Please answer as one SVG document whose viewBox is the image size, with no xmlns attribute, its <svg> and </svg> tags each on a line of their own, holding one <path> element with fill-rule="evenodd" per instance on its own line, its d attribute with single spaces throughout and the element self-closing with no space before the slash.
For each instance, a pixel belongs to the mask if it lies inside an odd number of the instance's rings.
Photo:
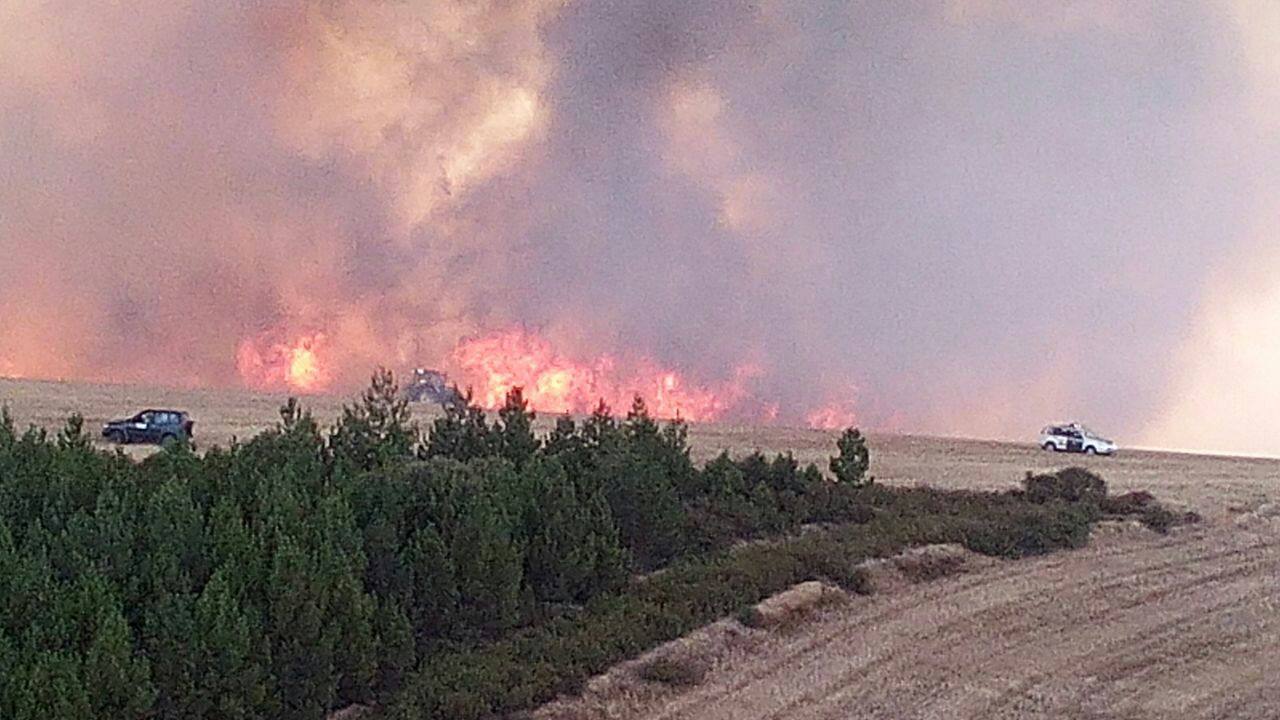
<svg viewBox="0 0 1280 720">
<path fill-rule="evenodd" d="M 346 391 L 536 336 L 575 392 L 641 368 L 714 416 L 1280 452 L 1225 400 L 1280 392 L 1266 0 L 0 27 L 0 374 Z"/>
</svg>

